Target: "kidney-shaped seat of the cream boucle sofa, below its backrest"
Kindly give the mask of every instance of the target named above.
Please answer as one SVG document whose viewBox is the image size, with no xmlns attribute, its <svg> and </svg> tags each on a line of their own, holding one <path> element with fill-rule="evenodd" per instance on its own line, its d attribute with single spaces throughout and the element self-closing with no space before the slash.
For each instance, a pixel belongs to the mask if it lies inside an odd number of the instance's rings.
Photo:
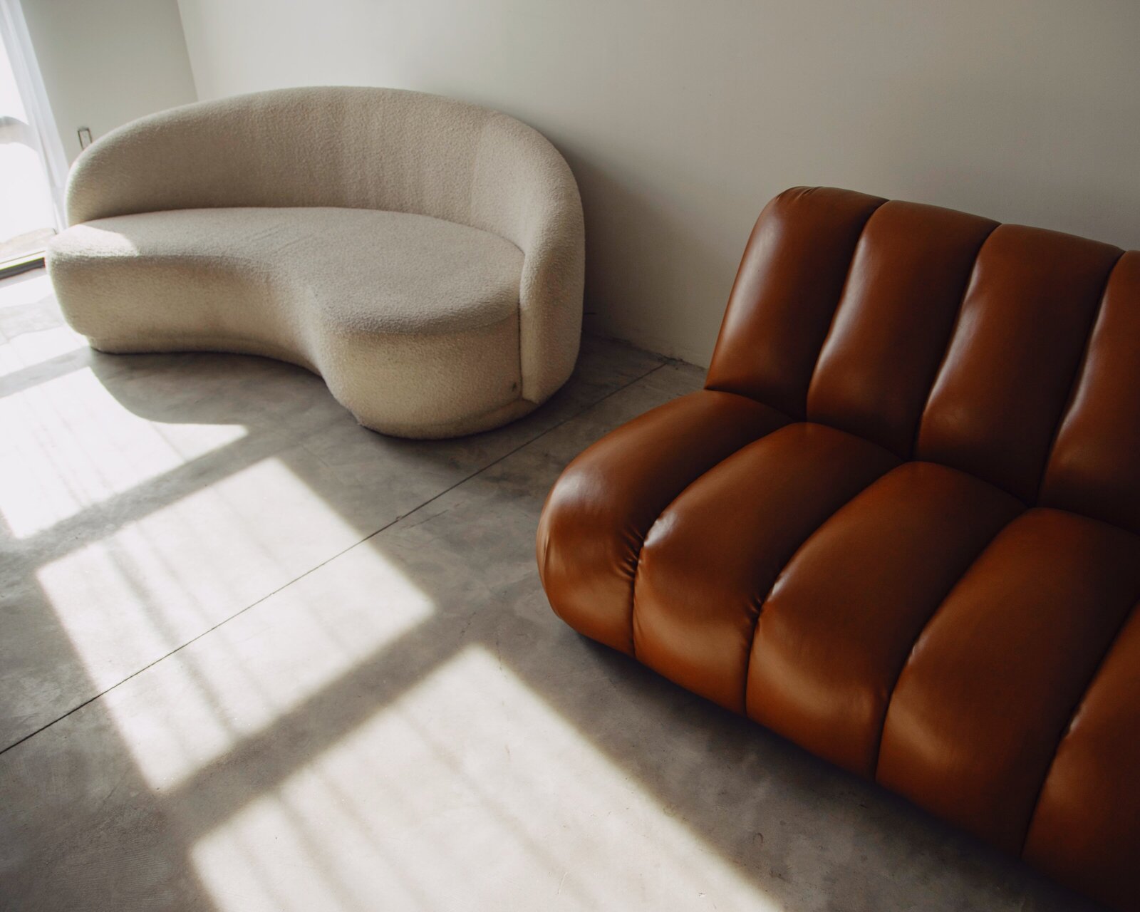
<svg viewBox="0 0 1140 912">
<path fill-rule="evenodd" d="M 333 207 L 97 219 L 52 252 L 56 280 L 84 285 L 64 307 L 95 348 L 294 361 L 363 423 L 417 435 L 519 409 L 521 271 L 522 251 L 489 231 Z"/>
</svg>

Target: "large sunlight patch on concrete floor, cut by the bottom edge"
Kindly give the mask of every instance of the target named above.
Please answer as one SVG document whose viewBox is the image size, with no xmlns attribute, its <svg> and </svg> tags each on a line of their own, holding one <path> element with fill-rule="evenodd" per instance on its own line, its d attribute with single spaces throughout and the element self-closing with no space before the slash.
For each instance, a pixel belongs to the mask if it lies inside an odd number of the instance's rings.
<svg viewBox="0 0 1140 912">
<path fill-rule="evenodd" d="M 193 858 L 222 912 L 597 910 L 613 897 L 779 909 L 478 646 L 237 811 Z"/>
</svg>

